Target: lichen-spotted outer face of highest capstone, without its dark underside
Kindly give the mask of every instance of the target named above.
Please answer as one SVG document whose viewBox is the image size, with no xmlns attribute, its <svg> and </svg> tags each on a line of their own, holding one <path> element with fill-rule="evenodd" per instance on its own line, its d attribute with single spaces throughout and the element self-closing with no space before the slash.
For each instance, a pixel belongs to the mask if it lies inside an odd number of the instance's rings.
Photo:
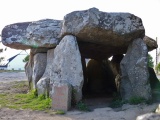
<svg viewBox="0 0 160 120">
<path fill-rule="evenodd" d="M 98 29 L 101 31 L 98 31 Z M 91 30 L 90 34 L 88 34 L 88 30 Z M 98 33 L 96 33 L 96 30 Z M 101 33 L 104 30 L 111 38 L 106 38 L 107 36 Z M 113 33 L 110 33 L 111 31 Z M 141 38 L 144 36 L 142 21 L 137 16 L 130 13 L 105 13 L 96 8 L 91 8 L 89 10 L 75 11 L 67 14 L 64 17 L 61 34 L 62 36 L 73 34 L 86 42 L 108 44 L 107 41 L 116 37 L 116 35 L 125 35 L 132 32 L 135 32 Z M 96 38 L 93 38 L 94 36 Z M 98 36 L 100 38 L 97 39 Z M 132 40 L 133 38 L 130 39 Z M 116 39 L 114 38 L 113 40 Z M 124 39 L 122 41 L 126 42 Z M 119 44 L 122 43 L 120 42 Z"/>
</svg>

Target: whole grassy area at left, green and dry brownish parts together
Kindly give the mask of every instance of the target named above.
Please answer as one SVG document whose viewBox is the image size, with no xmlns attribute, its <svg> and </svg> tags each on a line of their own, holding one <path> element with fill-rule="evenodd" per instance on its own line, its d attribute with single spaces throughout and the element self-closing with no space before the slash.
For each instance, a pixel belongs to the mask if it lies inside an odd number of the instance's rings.
<svg viewBox="0 0 160 120">
<path fill-rule="evenodd" d="M 17 81 L 7 84 L 9 91 L 0 93 L 0 108 L 11 108 L 11 109 L 30 109 L 30 110 L 40 110 L 48 114 L 64 115 L 65 112 L 61 110 L 51 109 L 51 99 L 45 95 L 37 95 L 36 90 L 28 91 L 27 81 Z M 4 84 L 5 86 L 5 84 Z"/>
</svg>

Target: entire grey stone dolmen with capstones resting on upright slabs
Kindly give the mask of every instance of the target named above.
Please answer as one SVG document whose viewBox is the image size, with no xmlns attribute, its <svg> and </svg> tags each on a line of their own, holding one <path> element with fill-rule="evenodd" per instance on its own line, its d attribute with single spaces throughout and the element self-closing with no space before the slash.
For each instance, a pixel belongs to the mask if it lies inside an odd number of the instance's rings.
<svg viewBox="0 0 160 120">
<path fill-rule="evenodd" d="M 142 19 L 131 13 L 90 8 L 63 20 L 15 23 L 2 30 L 2 43 L 30 49 L 28 81 L 38 95 L 51 97 L 53 109 L 69 110 L 87 90 L 99 94 L 110 88 L 123 100 L 152 99 L 147 57 L 158 46 L 145 35 Z M 86 65 L 86 59 L 92 61 Z"/>
</svg>

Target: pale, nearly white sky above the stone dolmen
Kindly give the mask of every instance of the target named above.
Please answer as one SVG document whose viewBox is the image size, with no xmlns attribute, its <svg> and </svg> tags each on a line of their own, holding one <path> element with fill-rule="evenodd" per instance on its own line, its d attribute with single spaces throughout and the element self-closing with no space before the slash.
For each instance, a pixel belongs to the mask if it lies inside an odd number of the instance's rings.
<svg viewBox="0 0 160 120">
<path fill-rule="evenodd" d="M 160 41 L 160 0 L 1 0 L 0 31 L 17 22 L 50 18 L 62 20 L 64 15 L 96 7 L 105 12 L 129 12 L 142 18 L 146 35 Z M 2 47 L 2 46 L 0 46 Z M 151 52 L 155 58 L 155 50 Z"/>
</svg>

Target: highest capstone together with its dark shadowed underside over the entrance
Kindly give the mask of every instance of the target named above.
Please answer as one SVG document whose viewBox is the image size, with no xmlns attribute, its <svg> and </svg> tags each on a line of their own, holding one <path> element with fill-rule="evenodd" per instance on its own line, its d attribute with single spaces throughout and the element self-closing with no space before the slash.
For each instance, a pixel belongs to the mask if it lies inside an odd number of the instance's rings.
<svg viewBox="0 0 160 120">
<path fill-rule="evenodd" d="M 125 53 L 132 40 L 143 39 L 145 30 L 142 20 L 133 14 L 91 8 L 64 17 L 61 36 L 66 34 L 77 37 L 85 58 L 108 58 Z"/>
</svg>

